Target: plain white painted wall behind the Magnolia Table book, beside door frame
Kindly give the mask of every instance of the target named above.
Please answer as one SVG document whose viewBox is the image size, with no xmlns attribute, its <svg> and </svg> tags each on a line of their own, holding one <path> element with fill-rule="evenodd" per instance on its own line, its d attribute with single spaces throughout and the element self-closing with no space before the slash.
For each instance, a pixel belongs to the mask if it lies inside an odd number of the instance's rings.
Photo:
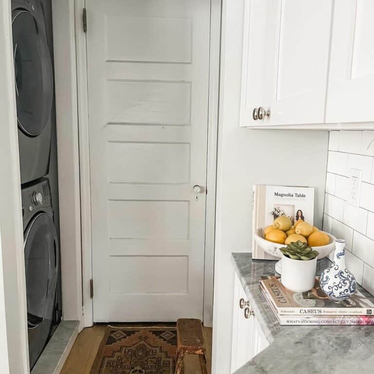
<svg viewBox="0 0 374 374">
<path fill-rule="evenodd" d="M 251 251 L 253 184 L 316 188 L 321 227 L 328 131 L 239 128 L 243 0 L 223 1 L 217 218 L 213 304 L 213 373 L 230 373 L 234 270 L 231 252 Z M 254 89 L 256 89 L 254 87 Z"/>
</svg>

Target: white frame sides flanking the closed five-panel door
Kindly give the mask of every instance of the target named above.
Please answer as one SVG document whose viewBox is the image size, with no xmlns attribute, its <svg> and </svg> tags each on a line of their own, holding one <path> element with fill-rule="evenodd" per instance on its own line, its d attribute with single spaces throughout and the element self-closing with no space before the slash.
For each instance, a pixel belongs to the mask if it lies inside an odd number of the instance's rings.
<svg viewBox="0 0 374 374">
<path fill-rule="evenodd" d="M 88 0 L 89 1 L 89 0 Z M 90 293 L 92 279 L 92 232 L 91 232 L 91 188 L 90 145 L 88 122 L 87 53 L 86 37 L 83 33 L 82 13 L 85 0 L 75 0 L 75 42 L 77 68 L 77 95 L 79 117 L 79 163 L 81 196 L 81 238 L 84 326 L 93 325 L 93 300 Z M 88 28 L 90 19 L 87 19 Z M 215 237 L 216 165 L 218 131 L 218 92 L 220 64 L 221 0 L 211 0 L 210 21 L 210 71 L 208 103 L 208 148 L 207 148 L 207 195 L 206 238 L 204 277 L 204 324 L 212 326 L 213 319 L 213 269 Z"/>
</svg>

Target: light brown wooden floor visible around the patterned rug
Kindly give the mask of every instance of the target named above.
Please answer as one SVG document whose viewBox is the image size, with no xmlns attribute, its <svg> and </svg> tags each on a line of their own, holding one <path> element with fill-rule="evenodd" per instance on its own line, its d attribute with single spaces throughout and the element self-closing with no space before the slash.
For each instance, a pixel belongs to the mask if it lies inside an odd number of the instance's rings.
<svg viewBox="0 0 374 374">
<path fill-rule="evenodd" d="M 165 323 L 162 325 L 165 326 Z M 118 324 L 118 326 L 123 326 L 123 324 Z M 144 326 L 144 324 L 131 324 L 131 326 Z M 62 368 L 61 374 L 90 374 L 106 327 L 107 324 L 105 323 L 96 323 L 93 327 L 85 328 L 78 335 Z M 210 327 L 203 327 L 203 334 L 206 344 L 206 369 L 208 374 L 211 374 L 212 329 Z"/>
</svg>

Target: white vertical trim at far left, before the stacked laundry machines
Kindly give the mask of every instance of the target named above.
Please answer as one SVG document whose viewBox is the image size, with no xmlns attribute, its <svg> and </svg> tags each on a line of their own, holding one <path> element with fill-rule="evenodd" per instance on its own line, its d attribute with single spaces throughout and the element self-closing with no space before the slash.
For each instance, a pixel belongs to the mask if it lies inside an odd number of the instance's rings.
<svg viewBox="0 0 374 374">
<path fill-rule="evenodd" d="M 0 2 L 1 373 L 29 373 L 11 1 Z"/>
</svg>

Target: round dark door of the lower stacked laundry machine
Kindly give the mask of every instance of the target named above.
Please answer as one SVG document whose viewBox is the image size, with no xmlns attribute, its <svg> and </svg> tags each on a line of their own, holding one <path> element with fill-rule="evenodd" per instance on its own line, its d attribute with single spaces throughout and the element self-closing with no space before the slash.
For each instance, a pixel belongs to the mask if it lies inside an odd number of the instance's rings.
<svg viewBox="0 0 374 374">
<path fill-rule="evenodd" d="M 28 327 L 51 321 L 58 269 L 56 228 L 46 213 L 38 213 L 24 234 Z M 48 337 L 49 329 L 47 334 Z M 47 338 L 46 337 L 46 338 Z"/>
</svg>

